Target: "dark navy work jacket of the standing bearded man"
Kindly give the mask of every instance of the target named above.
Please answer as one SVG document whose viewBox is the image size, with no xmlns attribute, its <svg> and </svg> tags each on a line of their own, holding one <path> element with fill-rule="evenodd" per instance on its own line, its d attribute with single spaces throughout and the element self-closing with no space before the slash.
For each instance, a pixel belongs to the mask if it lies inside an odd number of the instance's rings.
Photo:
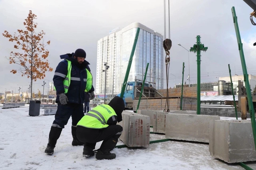
<svg viewBox="0 0 256 170">
<path fill-rule="evenodd" d="M 66 94 L 67 99 L 70 103 L 79 103 L 83 104 L 85 101 L 85 88 L 86 88 L 86 82 L 84 82 L 84 79 L 87 79 L 87 72 L 85 68 L 87 68 L 90 71 L 89 68 L 89 62 L 86 60 L 79 66 L 79 63 L 76 59 L 73 57 L 69 57 L 65 60 L 62 60 L 58 66 L 56 67 L 55 74 L 53 76 L 53 83 L 56 88 L 56 102 L 59 102 L 59 94 L 64 93 L 64 86 L 63 86 L 63 80 L 65 79 L 67 75 L 67 60 L 71 61 L 71 80 L 69 85 L 69 90 Z M 80 67 L 80 68 L 79 68 Z M 72 80 L 72 78 L 80 78 L 80 81 L 78 80 Z M 89 93 L 94 91 L 94 87 L 91 87 L 91 90 Z"/>
</svg>

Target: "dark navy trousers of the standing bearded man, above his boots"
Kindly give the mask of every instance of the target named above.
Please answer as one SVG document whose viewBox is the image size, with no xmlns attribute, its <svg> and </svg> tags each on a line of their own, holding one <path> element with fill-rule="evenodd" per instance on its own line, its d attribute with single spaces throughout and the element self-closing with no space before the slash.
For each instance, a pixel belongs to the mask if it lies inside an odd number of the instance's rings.
<svg viewBox="0 0 256 170">
<path fill-rule="evenodd" d="M 53 126 L 64 128 L 64 126 L 69 121 L 70 116 L 72 117 L 72 126 L 77 126 L 77 123 L 82 119 L 84 115 L 83 104 L 67 103 L 63 105 L 58 103 Z"/>
</svg>

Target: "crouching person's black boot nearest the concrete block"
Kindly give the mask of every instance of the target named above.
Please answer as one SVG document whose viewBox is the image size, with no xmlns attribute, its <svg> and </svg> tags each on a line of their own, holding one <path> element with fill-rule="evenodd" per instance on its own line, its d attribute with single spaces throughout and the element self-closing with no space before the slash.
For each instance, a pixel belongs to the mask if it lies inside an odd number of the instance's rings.
<svg viewBox="0 0 256 170">
<path fill-rule="evenodd" d="M 116 155 L 114 153 L 110 153 L 117 145 L 117 139 L 111 137 L 107 140 L 103 140 L 101 147 L 98 149 L 96 153 L 96 159 L 115 159 Z"/>
</svg>

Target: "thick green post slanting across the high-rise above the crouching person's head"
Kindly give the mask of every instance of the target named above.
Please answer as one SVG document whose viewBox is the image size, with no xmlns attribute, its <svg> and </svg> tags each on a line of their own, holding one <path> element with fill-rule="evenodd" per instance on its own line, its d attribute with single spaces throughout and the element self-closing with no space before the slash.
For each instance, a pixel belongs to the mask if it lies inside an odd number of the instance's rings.
<svg viewBox="0 0 256 170">
<path fill-rule="evenodd" d="M 125 87 L 126 87 L 126 84 L 127 84 L 128 76 L 129 76 L 130 69 L 131 69 L 131 63 L 133 62 L 134 51 L 135 51 L 136 44 L 137 44 L 138 37 L 139 37 L 139 30 L 140 30 L 140 28 L 137 29 L 137 32 L 136 32 L 136 35 L 135 35 L 135 38 L 134 38 L 133 48 L 131 50 L 130 59 L 129 59 L 127 70 L 126 70 L 126 73 L 125 73 L 125 79 L 123 80 L 122 91 L 121 91 L 121 94 L 120 94 L 121 98 L 123 98 L 123 95 L 125 93 Z"/>
</svg>

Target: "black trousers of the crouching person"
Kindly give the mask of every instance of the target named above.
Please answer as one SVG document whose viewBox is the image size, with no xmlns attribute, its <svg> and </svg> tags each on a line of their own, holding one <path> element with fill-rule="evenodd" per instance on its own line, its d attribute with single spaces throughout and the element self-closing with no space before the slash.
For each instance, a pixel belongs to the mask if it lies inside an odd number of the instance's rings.
<svg viewBox="0 0 256 170">
<path fill-rule="evenodd" d="M 110 125 L 102 129 L 92 129 L 83 126 L 77 126 L 78 140 L 85 142 L 85 146 L 95 149 L 97 142 L 102 141 L 100 149 L 113 150 L 117 144 L 118 138 L 123 131 L 120 125 Z"/>
</svg>

